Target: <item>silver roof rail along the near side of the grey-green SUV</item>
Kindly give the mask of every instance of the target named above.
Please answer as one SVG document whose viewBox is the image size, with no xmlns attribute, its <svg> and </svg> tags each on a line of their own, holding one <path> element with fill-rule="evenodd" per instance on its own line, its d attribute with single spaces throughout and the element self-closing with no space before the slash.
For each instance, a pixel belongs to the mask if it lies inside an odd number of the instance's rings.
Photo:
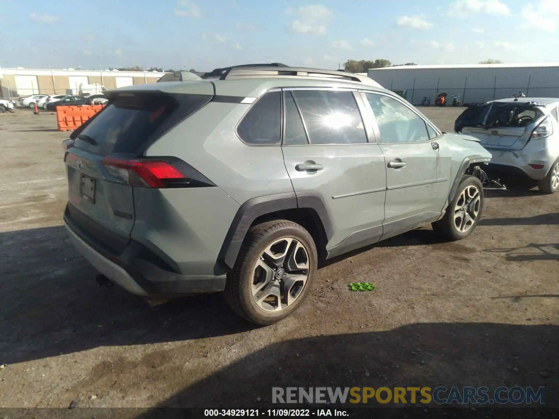
<svg viewBox="0 0 559 419">
<path fill-rule="evenodd" d="M 281 68 L 278 68 L 281 67 Z M 359 82 L 363 84 L 382 87 L 375 80 L 367 77 L 366 75 L 354 74 L 345 72 L 344 70 L 323 70 L 317 68 L 305 67 L 288 67 L 288 66 L 266 66 L 266 65 L 238 65 L 228 67 L 221 70 L 221 80 L 227 80 L 234 77 L 270 77 L 274 75 L 291 75 L 297 77 L 331 77 L 350 80 L 352 82 Z M 214 70 L 215 71 L 215 70 Z"/>
</svg>

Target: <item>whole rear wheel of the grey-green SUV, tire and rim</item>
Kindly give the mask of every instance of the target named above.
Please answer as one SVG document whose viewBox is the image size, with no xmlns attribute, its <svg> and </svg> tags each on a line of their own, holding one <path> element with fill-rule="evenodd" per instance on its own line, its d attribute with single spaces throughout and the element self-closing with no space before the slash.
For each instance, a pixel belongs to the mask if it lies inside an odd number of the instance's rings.
<svg viewBox="0 0 559 419">
<path fill-rule="evenodd" d="M 299 224 L 274 220 L 253 226 L 229 274 L 225 299 L 239 316 L 271 325 L 304 301 L 317 262 L 315 242 Z"/>
</svg>

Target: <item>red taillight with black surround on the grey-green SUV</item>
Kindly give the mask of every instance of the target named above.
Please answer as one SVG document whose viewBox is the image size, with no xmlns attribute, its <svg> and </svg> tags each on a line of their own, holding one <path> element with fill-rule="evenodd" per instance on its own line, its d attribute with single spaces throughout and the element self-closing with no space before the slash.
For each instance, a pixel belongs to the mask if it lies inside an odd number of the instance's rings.
<svg viewBox="0 0 559 419">
<path fill-rule="evenodd" d="M 184 161 L 176 158 L 103 159 L 107 172 L 129 185 L 143 188 L 196 188 L 214 186 Z"/>
</svg>

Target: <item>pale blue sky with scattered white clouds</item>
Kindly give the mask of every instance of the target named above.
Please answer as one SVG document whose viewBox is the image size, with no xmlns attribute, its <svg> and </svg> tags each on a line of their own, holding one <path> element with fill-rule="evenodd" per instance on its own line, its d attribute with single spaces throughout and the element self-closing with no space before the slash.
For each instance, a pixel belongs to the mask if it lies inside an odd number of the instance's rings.
<svg viewBox="0 0 559 419">
<path fill-rule="evenodd" d="M 0 0 L 0 66 L 559 61 L 559 0 Z"/>
</svg>

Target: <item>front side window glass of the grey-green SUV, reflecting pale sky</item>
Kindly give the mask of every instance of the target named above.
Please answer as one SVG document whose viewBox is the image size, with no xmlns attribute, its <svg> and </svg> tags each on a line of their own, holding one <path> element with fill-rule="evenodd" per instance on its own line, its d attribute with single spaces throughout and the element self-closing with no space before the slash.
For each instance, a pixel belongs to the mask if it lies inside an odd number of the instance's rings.
<svg viewBox="0 0 559 419">
<path fill-rule="evenodd" d="M 382 94 L 366 93 L 380 131 L 381 141 L 429 141 L 425 121 L 403 103 Z"/>
</svg>

